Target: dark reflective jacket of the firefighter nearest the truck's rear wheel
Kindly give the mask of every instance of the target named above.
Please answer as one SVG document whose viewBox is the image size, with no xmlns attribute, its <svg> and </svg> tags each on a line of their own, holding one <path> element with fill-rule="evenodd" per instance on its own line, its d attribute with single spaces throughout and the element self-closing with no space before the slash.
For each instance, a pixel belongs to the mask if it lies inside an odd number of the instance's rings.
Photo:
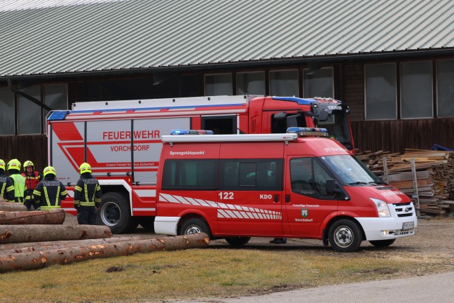
<svg viewBox="0 0 454 303">
<path fill-rule="evenodd" d="M 101 204 L 101 187 L 90 173 L 83 173 L 74 187 L 74 206 L 93 206 L 99 208 Z"/>
</svg>

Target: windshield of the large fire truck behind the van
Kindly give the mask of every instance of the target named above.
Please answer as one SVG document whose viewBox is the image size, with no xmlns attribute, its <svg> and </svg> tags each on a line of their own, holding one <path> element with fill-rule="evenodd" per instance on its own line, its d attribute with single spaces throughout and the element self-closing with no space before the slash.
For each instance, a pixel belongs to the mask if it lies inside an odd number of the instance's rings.
<svg viewBox="0 0 454 303">
<path fill-rule="evenodd" d="M 333 111 L 328 115 L 328 119 L 320 121 L 314 117 L 315 127 L 326 128 L 331 137 L 341 142 L 347 149 L 353 149 L 352 137 L 350 137 L 350 127 L 346 114 L 341 111 Z"/>
</svg>

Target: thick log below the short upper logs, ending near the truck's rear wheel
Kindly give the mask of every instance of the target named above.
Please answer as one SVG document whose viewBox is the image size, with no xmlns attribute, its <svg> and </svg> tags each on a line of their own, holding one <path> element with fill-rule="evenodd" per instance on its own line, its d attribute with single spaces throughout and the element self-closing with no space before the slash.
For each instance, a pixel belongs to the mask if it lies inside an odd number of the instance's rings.
<svg viewBox="0 0 454 303">
<path fill-rule="evenodd" d="M 110 238 L 109 227 L 99 225 L 0 225 L 1 243 Z"/>
</svg>

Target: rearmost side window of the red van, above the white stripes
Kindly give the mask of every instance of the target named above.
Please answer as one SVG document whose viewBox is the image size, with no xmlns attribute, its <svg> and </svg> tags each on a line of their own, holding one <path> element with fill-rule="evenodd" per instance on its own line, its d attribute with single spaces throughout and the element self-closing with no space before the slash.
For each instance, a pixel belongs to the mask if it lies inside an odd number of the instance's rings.
<svg viewBox="0 0 454 303">
<path fill-rule="evenodd" d="M 166 160 L 163 189 L 216 189 L 217 160 Z"/>
</svg>

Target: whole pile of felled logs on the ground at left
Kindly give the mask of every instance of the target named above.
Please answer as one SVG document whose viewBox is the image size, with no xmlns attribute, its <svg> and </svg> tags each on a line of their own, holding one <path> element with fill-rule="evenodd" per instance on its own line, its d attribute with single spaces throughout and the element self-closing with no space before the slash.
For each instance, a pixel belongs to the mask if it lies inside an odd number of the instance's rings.
<svg viewBox="0 0 454 303">
<path fill-rule="evenodd" d="M 206 234 L 166 238 L 111 238 L 109 227 L 63 225 L 61 209 L 27 211 L 0 197 L 0 272 L 41 269 L 102 257 L 155 250 L 203 248 Z"/>
</svg>

